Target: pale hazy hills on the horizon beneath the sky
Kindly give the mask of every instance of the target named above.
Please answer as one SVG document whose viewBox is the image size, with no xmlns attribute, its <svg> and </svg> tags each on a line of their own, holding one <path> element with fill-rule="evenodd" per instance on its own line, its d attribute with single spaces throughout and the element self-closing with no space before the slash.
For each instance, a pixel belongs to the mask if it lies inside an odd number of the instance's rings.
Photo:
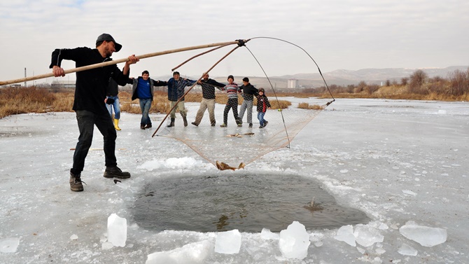
<svg viewBox="0 0 469 264">
<path fill-rule="evenodd" d="M 329 71 L 323 73 L 325 81 L 328 85 L 350 85 L 358 84 L 360 81 L 365 81 L 370 84 L 380 85 L 381 82 L 384 83 L 386 80 L 393 81 L 396 80 L 400 82 L 401 78 L 411 76 L 414 71 L 417 69 L 409 68 L 384 68 L 384 69 L 359 69 L 356 71 L 338 69 L 335 71 Z M 442 78 L 448 78 L 448 74 L 453 73 L 456 70 L 467 71 L 468 66 L 451 66 L 447 68 L 423 68 L 422 71 L 425 71 L 429 77 L 440 76 Z M 165 80 L 171 78 L 172 76 L 160 76 L 156 79 Z M 241 79 L 244 76 L 235 76 L 235 82 L 239 85 L 242 84 Z M 221 83 L 227 83 L 226 76 L 211 76 Z M 255 85 L 257 88 L 268 88 L 270 83 L 274 88 L 286 88 L 288 79 L 294 78 L 297 79 L 298 85 L 302 85 L 304 88 L 320 87 L 323 86 L 323 79 L 318 73 L 314 74 L 293 74 L 293 75 L 283 75 L 283 76 L 269 76 L 269 81 L 265 77 L 252 77 L 248 76 L 249 81 Z"/>
</svg>

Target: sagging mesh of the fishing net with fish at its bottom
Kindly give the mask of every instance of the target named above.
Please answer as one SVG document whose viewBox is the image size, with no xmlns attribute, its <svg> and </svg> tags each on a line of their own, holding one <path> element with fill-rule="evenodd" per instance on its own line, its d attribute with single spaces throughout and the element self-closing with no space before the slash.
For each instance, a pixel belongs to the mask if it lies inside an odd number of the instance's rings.
<svg viewBox="0 0 469 264">
<path fill-rule="evenodd" d="M 281 99 L 298 101 L 293 97 Z M 272 104 L 272 101 L 275 102 L 275 97 L 269 98 L 269 100 Z M 311 99 L 308 101 L 311 102 Z M 218 123 L 215 126 L 211 126 L 208 111 L 204 113 L 204 118 L 197 127 L 191 125 L 190 122 L 195 120 L 197 113 L 197 110 L 194 110 L 188 111 L 188 127 L 183 127 L 179 121 L 176 122 L 175 127 L 167 127 L 166 125 L 160 127 L 155 135 L 183 142 L 213 165 L 217 165 L 217 162 L 220 165 L 223 162 L 228 165 L 223 169 L 238 169 L 241 163 L 248 165 L 262 155 L 279 148 L 289 147 L 298 132 L 325 109 L 327 105 L 325 99 L 317 99 L 316 101 L 316 103 L 309 105 L 321 106 L 319 109 L 300 109 L 297 107 L 298 103 L 292 102 L 287 109 L 267 110 L 264 118 L 268 123 L 263 128 L 260 128 L 255 103 L 252 113 L 252 127 L 246 123 L 246 114 L 242 126 L 239 127 L 233 118 L 232 109 L 228 114 L 227 126 L 221 127 L 221 120 L 226 113 L 224 111 L 225 104 L 216 104 L 215 116 Z M 239 109 L 239 106 L 236 106 L 235 109 Z M 218 168 L 221 169 L 219 166 Z"/>
</svg>

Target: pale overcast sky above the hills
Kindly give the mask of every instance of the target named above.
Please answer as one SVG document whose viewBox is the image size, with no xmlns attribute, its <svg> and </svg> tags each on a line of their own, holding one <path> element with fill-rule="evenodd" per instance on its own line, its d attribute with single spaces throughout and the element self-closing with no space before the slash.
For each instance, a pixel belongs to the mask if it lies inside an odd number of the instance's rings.
<svg viewBox="0 0 469 264">
<path fill-rule="evenodd" d="M 469 64 L 469 2 L 449 1 L 1 1 L 0 81 L 48 74 L 55 48 L 94 48 L 99 34 L 123 45 L 118 60 L 209 43 L 269 36 L 295 43 L 322 72 L 336 69 L 426 68 Z M 295 46 L 252 39 L 246 46 L 268 76 L 317 73 Z M 179 69 L 199 77 L 231 48 L 204 55 Z M 246 48 L 238 48 L 211 76 L 264 76 Z M 141 60 L 131 76 L 171 69 L 203 50 Z M 120 69 L 123 64 L 118 64 Z M 74 68 L 73 62 L 62 64 Z M 62 79 L 75 79 L 75 74 Z M 52 79 L 36 81 L 41 83 Z"/>
</svg>

